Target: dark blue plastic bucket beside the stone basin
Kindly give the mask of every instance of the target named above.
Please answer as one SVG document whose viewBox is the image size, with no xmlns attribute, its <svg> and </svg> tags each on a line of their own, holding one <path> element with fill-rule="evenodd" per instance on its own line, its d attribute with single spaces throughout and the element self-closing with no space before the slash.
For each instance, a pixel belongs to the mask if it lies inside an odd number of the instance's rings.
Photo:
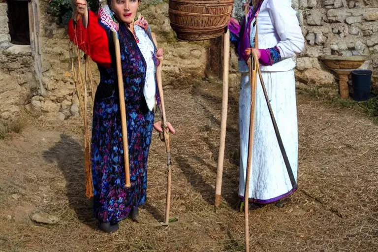
<svg viewBox="0 0 378 252">
<path fill-rule="evenodd" d="M 367 101 L 370 98 L 371 70 L 352 71 L 353 99 L 356 101 Z"/>
</svg>

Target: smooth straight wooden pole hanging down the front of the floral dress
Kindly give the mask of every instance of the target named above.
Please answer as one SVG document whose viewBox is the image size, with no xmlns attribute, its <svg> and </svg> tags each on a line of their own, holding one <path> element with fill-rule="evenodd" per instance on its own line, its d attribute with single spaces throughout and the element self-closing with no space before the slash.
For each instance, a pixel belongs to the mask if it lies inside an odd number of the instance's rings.
<svg viewBox="0 0 378 252">
<path fill-rule="evenodd" d="M 128 142 L 127 142 L 127 124 L 126 124 L 126 105 L 125 105 L 125 89 L 122 77 L 121 67 L 121 51 L 120 41 L 118 40 L 117 32 L 113 32 L 114 46 L 116 49 L 116 62 L 117 62 L 117 77 L 118 77 L 118 93 L 120 95 L 120 111 L 121 111 L 121 124 L 122 124 L 122 139 L 124 143 L 124 159 L 125 159 L 125 187 L 130 188 L 130 164 L 128 160 Z"/>
</svg>

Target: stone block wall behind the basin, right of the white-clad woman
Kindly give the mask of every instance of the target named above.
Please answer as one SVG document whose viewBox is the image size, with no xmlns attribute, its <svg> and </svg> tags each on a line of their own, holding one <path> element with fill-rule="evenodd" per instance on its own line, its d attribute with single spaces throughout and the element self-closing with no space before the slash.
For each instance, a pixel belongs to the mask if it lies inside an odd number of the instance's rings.
<svg viewBox="0 0 378 252">
<path fill-rule="evenodd" d="M 361 68 L 378 71 L 377 0 L 292 0 L 306 40 L 297 58 L 297 76 L 315 84 L 335 80 L 318 57 L 368 56 Z"/>
</svg>

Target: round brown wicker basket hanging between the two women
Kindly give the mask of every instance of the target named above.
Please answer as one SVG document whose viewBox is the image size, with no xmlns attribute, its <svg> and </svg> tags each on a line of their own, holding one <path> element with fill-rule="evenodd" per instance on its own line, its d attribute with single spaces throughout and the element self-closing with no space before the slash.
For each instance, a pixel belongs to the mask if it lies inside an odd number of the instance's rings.
<svg viewBox="0 0 378 252">
<path fill-rule="evenodd" d="M 206 40 L 221 36 L 234 0 L 169 0 L 171 27 L 181 40 Z"/>
</svg>

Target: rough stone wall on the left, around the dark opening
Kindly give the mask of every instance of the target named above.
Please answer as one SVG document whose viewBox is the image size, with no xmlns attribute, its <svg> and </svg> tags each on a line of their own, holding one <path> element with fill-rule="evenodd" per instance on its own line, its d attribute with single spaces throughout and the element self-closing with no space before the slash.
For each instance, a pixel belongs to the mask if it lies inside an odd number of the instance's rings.
<svg viewBox="0 0 378 252">
<path fill-rule="evenodd" d="M 0 0 L 0 120 L 15 118 L 24 108 L 62 120 L 78 114 L 75 85 L 66 76 L 66 27 L 58 27 L 56 18 L 46 14 L 46 4 L 29 2 L 31 45 L 24 46 L 10 43 L 7 4 Z"/>
</svg>

